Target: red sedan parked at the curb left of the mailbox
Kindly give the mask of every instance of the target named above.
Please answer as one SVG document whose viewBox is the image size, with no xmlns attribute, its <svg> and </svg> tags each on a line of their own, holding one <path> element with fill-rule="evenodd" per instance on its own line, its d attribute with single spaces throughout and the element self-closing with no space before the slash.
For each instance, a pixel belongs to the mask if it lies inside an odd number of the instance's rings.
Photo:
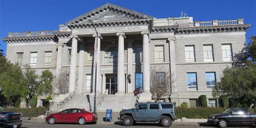
<svg viewBox="0 0 256 128">
<path fill-rule="evenodd" d="M 97 114 L 83 109 L 66 109 L 58 113 L 50 114 L 45 118 L 49 124 L 55 123 L 78 123 L 84 125 L 87 122 L 97 122 Z"/>
</svg>

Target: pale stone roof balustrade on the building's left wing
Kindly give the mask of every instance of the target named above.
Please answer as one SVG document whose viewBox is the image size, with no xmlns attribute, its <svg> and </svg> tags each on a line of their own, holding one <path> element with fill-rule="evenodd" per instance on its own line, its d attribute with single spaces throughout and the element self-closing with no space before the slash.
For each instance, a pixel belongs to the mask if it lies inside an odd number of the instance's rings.
<svg viewBox="0 0 256 128">
<path fill-rule="evenodd" d="M 28 31 L 28 32 L 9 32 L 8 37 L 25 37 L 25 36 L 42 36 L 42 35 L 55 35 L 58 30 L 55 31 Z"/>
</svg>

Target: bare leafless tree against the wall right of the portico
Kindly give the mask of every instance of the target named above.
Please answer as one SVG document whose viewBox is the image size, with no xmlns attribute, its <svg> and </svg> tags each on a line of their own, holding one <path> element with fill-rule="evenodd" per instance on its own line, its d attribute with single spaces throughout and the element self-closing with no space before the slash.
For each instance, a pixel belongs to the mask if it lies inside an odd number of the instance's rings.
<svg viewBox="0 0 256 128">
<path fill-rule="evenodd" d="M 160 72 L 156 67 L 151 68 L 150 91 L 155 102 L 159 102 L 161 98 L 171 95 L 173 75 L 169 72 Z"/>
</svg>

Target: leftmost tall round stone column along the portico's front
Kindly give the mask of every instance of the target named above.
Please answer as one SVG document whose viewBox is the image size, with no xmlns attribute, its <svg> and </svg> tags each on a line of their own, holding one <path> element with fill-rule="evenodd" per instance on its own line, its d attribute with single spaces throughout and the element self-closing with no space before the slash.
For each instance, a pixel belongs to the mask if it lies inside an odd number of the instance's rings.
<svg viewBox="0 0 256 128">
<path fill-rule="evenodd" d="M 77 35 L 72 36 L 71 60 L 69 70 L 69 93 L 76 89 L 76 70 L 77 70 Z"/>
</svg>

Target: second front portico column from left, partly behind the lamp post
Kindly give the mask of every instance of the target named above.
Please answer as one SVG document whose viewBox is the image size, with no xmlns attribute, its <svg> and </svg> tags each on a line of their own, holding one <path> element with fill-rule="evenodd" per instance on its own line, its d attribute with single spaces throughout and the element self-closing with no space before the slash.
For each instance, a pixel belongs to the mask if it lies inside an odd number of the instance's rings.
<svg viewBox="0 0 256 128">
<path fill-rule="evenodd" d="M 95 37 L 95 42 L 97 43 L 97 72 L 96 72 L 96 92 L 99 92 L 99 85 L 100 85 L 100 39 L 101 35 L 98 33 L 98 42 L 97 42 L 97 34 L 93 34 L 93 37 Z M 94 92 L 94 87 L 93 87 L 93 92 Z"/>
</svg>

